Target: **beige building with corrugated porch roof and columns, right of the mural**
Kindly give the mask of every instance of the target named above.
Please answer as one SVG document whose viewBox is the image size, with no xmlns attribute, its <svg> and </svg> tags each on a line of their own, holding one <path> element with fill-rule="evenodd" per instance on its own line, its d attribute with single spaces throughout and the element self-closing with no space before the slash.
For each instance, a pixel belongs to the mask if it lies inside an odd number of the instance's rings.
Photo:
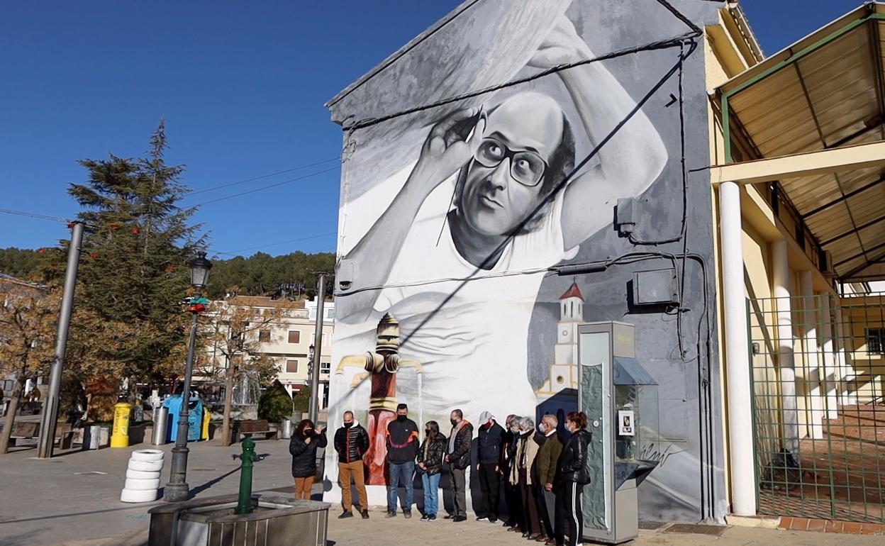
<svg viewBox="0 0 885 546">
<path fill-rule="evenodd" d="M 885 4 L 705 30 L 731 511 L 881 522 Z"/>
</svg>

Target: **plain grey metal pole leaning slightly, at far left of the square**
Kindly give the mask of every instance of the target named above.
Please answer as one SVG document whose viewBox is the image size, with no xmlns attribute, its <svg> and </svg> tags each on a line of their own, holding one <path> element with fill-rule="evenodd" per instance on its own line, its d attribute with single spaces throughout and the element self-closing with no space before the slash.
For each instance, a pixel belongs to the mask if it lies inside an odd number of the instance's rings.
<svg viewBox="0 0 885 546">
<path fill-rule="evenodd" d="M 71 244 L 67 249 L 67 270 L 65 271 L 65 288 L 61 299 L 61 311 L 58 313 L 58 334 L 56 335 L 55 356 L 52 358 L 50 372 L 50 392 L 43 404 L 40 419 L 40 443 L 37 448 L 38 458 L 52 457 L 55 447 L 55 427 L 58 419 L 58 395 L 61 390 L 61 373 L 65 366 L 65 349 L 67 348 L 67 330 L 71 325 L 73 311 L 73 288 L 77 281 L 77 265 L 80 264 L 80 246 L 83 242 L 83 224 L 73 222 Z"/>
</svg>

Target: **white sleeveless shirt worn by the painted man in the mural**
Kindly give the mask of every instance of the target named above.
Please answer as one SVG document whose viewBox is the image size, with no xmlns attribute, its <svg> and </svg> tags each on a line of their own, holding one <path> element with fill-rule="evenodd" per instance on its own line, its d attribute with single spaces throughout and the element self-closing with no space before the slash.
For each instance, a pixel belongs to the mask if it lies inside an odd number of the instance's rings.
<svg viewBox="0 0 885 546">
<path fill-rule="evenodd" d="M 577 252 L 564 250 L 563 193 L 534 231 L 512 238 L 490 270 L 460 256 L 446 214 L 412 225 L 374 309 L 394 314 L 400 354 L 424 366 L 420 385 L 413 373 L 397 374 L 397 397 L 410 408 L 419 404 L 425 419 L 447 418 L 454 408 L 473 420 L 486 410 L 500 419 L 534 415 L 527 373 L 532 309 L 546 268 Z M 390 286 L 397 284 L 407 286 Z"/>
</svg>

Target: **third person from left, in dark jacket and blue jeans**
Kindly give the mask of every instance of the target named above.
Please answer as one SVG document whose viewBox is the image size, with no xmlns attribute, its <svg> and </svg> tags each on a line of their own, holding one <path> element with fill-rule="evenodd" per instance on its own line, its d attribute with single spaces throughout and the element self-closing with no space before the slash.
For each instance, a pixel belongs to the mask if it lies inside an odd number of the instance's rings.
<svg viewBox="0 0 885 546">
<path fill-rule="evenodd" d="M 396 490 L 402 482 L 405 487 L 403 516 L 412 517 L 414 496 L 415 456 L 418 454 L 418 425 L 409 419 L 409 406 L 396 405 L 396 419 L 388 423 L 388 518 L 396 517 Z"/>
</svg>

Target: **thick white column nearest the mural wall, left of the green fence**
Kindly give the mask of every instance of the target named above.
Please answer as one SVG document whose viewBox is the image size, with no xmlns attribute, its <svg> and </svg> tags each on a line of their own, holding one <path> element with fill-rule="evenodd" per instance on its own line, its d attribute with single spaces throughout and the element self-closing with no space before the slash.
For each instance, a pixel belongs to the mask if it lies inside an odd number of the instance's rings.
<svg viewBox="0 0 885 546">
<path fill-rule="evenodd" d="M 741 188 L 735 182 L 720 184 L 720 237 L 722 308 L 727 355 L 731 511 L 738 516 L 752 516 L 756 514 L 756 477 L 750 411 L 750 351 L 743 286 Z"/>
</svg>

